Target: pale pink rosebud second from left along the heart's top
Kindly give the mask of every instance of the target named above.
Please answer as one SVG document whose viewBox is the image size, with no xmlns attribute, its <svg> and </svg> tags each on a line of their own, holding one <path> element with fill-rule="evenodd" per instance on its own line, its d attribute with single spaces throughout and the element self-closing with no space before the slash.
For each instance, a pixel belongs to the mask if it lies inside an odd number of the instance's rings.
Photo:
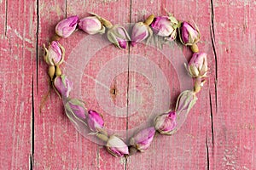
<svg viewBox="0 0 256 170">
<path fill-rule="evenodd" d="M 87 34 L 105 33 L 105 26 L 102 26 L 102 22 L 96 16 L 89 16 L 79 20 L 79 29 Z"/>
</svg>

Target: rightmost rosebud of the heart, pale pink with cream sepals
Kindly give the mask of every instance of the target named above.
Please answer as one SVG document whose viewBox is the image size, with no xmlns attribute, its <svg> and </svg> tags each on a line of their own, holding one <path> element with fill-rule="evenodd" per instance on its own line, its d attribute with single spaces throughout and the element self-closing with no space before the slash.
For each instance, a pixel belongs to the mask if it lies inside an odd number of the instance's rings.
<svg viewBox="0 0 256 170">
<path fill-rule="evenodd" d="M 191 77 L 207 77 L 207 54 L 194 53 L 186 69 Z"/>
</svg>

